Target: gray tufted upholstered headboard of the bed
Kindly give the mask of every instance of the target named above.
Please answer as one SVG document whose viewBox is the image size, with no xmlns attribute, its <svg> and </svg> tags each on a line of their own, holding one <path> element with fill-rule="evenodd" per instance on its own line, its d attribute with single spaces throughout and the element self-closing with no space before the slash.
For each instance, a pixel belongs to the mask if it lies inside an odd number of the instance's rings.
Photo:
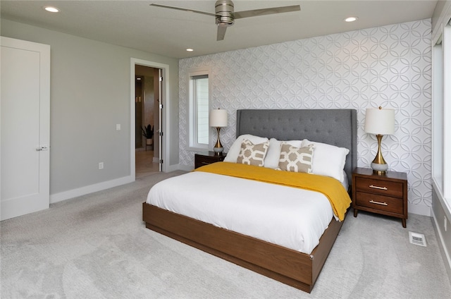
<svg viewBox="0 0 451 299">
<path fill-rule="evenodd" d="M 252 134 L 277 140 L 328 143 L 350 150 L 345 172 L 352 183 L 357 167 L 357 111 L 355 109 L 243 109 L 237 110 L 237 137 Z"/>
</svg>

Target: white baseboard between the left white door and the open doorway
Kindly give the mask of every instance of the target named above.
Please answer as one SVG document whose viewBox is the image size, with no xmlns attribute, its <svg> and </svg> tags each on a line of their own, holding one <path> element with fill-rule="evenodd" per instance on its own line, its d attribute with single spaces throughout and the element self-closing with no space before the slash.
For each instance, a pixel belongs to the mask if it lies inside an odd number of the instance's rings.
<svg viewBox="0 0 451 299">
<path fill-rule="evenodd" d="M 127 183 L 132 183 L 135 181 L 135 178 L 132 176 L 124 176 L 123 178 L 116 178 L 111 181 L 101 182 L 93 185 L 87 185 L 82 188 L 77 188 L 73 190 L 64 191 L 61 193 L 55 193 L 50 195 L 50 203 L 54 204 L 55 202 L 62 202 L 63 200 L 69 200 L 73 197 L 78 197 L 82 195 L 86 195 L 89 193 L 106 190 L 109 188 L 116 187 L 118 185 L 124 185 Z"/>
</svg>

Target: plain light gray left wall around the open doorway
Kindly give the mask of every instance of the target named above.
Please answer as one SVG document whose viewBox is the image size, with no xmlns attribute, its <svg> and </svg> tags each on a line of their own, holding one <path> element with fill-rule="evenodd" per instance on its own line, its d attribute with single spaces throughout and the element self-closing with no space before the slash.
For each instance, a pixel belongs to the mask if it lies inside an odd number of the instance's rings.
<svg viewBox="0 0 451 299">
<path fill-rule="evenodd" d="M 166 133 L 175 138 L 166 145 L 171 154 L 165 163 L 178 164 L 178 59 L 4 18 L 1 35 L 51 46 L 50 193 L 54 199 L 108 188 L 131 178 L 130 58 L 170 68 L 166 108 L 171 109 L 172 123 L 171 132 Z M 116 124 L 121 124 L 121 130 L 116 130 Z M 104 162 L 103 170 L 98 169 L 99 162 Z M 89 188 L 93 185 L 96 187 Z"/>
</svg>

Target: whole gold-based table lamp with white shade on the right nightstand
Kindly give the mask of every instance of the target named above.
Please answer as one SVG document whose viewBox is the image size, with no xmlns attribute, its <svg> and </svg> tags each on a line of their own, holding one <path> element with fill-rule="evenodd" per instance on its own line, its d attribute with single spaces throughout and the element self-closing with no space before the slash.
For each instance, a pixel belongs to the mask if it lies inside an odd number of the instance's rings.
<svg viewBox="0 0 451 299">
<path fill-rule="evenodd" d="M 371 162 L 371 168 L 373 169 L 373 173 L 383 175 L 387 171 L 388 165 L 382 157 L 381 140 L 383 135 L 392 135 L 395 133 L 395 110 L 382 109 L 382 107 L 366 109 L 364 130 L 366 133 L 376 134 L 378 153 Z"/>
</svg>

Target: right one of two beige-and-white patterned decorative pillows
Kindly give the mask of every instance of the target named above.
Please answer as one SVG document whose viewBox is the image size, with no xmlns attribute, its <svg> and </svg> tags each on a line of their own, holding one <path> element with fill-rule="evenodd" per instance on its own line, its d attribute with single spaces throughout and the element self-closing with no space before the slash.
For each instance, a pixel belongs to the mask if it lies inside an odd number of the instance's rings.
<svg viewBox="0 0 451 299">
<path fill-rule="evenodd" d="M 293 147 L 282 142 L 280 148 L 279 169 L 292 172 L 311 173 L 314 146 Z"/>
</svg>

